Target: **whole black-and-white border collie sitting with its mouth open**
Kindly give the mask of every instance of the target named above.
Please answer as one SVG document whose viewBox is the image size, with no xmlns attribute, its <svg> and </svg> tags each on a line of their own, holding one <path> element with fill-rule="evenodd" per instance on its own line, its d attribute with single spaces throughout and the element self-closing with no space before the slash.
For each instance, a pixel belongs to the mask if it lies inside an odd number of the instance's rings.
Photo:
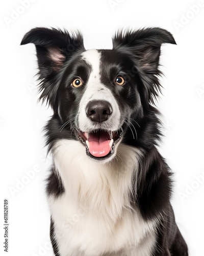
<svg viewBox="0 0 204 256">
<path fill-rule="evenodd" d="M 50 239 L 58 256 L 188 255 L 170 204 L 172 172 L 157 150 L 161 28 L 118 30 L 86 50 L 81 32 L 34 28 L 40 100 L 53 166 Z"/>
</svg>

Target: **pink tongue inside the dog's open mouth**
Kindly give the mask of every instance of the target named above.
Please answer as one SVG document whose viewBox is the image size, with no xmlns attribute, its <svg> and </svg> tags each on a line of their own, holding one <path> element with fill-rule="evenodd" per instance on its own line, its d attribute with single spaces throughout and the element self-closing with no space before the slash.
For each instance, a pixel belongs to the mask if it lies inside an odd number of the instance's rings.
<svg viewBox="0 0 204 256">
<path fill-rule="evenodd" d="M 108 138 L 107 138 L 108 137 Z M 104 157 L 111 151 L 109 134 L 98 132 L 89 134 L 89 152 L 94 157 Z"/>
</svg>

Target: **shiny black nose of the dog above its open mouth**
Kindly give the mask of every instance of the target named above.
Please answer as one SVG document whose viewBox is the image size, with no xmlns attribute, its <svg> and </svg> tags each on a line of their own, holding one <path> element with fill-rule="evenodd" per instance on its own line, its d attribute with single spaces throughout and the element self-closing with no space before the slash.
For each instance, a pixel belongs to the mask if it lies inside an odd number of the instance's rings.
<svg viewBox="0 0 204 256">
<path fill-rule="evenodd" d="M 90 101 L 86 107 L 86 114 L 98 123 L 104 122 L 112 114 L 112 107 L 108 101 Z"/>
</svg>

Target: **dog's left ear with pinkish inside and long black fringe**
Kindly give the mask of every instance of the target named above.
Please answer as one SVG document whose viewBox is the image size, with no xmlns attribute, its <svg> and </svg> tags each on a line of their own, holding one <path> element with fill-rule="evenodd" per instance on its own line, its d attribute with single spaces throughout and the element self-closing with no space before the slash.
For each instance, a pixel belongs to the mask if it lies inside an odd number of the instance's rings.
<svg viewBox="0 0 204 256">
<path fill-rule="evenodd" d="M 24 35 L 21 45 L 33 43 L 36 46 L 40 99 L 54 108 L 58 88 L 57 74 L 71 55 L 85 51 L 80 32 L 70 35 L 66 30 L 35 28 Z"/>
</svg>

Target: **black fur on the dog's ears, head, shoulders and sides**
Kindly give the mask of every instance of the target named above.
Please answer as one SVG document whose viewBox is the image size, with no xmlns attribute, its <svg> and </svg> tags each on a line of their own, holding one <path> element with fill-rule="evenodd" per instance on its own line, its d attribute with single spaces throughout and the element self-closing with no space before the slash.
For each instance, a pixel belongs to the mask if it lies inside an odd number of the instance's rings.
<svg viewBox="0 0 204 256">
<path fill-rule="evenodd" d="M 53 117 L 45 126 L 50 151 L 59 139 L 78 139 L 73 132 L 76 120 L 75 123 L 68 122 L 62 130 L 61 127 L 67 118 L 71 120 L 77 115 L 74 102 L 82 97 L 85 89 L 80 88 L 76 92 L 68 84 L 79 74 L 86 83 L 91 67 L 80 56 L 85 48 L 79 32 L 70 35 L 67 31 L 36 28 L 25 34 L 21 45 L 30 42 L 35 44 L 37 51 L 40 99 L 46 100 L 54 111 Z M 98 50 L 103 63 L 100 76 L 101 82 L 111 88 L 114 97 L 120 102 L 123 116 L 127 116 L 127 121 L 131 122 L 132 129 L 126 124 L 122 126 L 122 142 L 142 148 L 144 152 L 139 174 L 132 181 L 132 205 L 139 206 L 145 220 L 163 216 L 157 227 L 157 245 L 152 255 L 187 256 L 187 245 L 176 226 L 170 204 L 171 171 L 156 148 L 162 135 L 158 118 L 160 113 L 155 107 L 155 99 L 161 91 L 159 57 L 164 43 L 175 44 L 175 41 L 169 32 L 160 28 L 119 31 L 113 38 L 112 50 Z M 125 77 L 126 87 L 113 87 L 113 79 L 117 74 Z M 141 106 L 138 104 L 139 98 Z M 58 113 L 59 107 L 61 115 Z M 132 130 L 136 131 L 135 139 Z M 47 180 L 47 194 L 57 198 L 64 191 L 61 178 L 56 176 L 52 168 Z M 60 255 L 53 228 L 51 220 L 50 237 L 55 255 Z"/>
</svg>

